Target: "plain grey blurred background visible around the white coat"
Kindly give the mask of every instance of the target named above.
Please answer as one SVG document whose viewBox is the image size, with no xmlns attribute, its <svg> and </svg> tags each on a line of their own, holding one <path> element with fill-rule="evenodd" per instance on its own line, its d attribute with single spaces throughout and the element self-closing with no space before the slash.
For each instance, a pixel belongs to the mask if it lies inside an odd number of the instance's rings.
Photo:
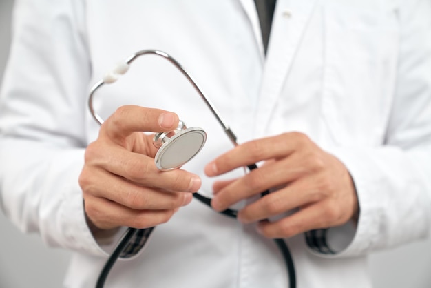
<svg viewBox="0 0 431 288">
<path fill-rule="evenodd" d="M 0 79 L 8 57 L 12 6 L 12 0 L 0 0 Z M 68 251 L 47 247 L 38 235 L 19 232 L 0 212 L 1 288 L 61 287 L 69 258 Z M 429 288 L 431 240 L 374 254 L 370 267 L 375 288 Z"/>
</svg>

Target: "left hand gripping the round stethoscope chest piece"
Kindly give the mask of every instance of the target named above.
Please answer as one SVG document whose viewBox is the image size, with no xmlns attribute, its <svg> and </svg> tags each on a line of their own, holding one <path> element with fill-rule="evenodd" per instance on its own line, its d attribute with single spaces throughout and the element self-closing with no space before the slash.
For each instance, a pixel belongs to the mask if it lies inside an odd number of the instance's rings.
<svg viewBox="0 0 431 288">
<path fill-rule="evenodd" d="M 101 125 L 79 179 L 85 212 L 95 227 L 152 227 L 190 203 L 200 178 L 182 169 L 161 172 L 154 165 L 153 136 L 142 133 L 176 130 L 178 121 L 171 112 L 125 106 Z"/>
</svg>

